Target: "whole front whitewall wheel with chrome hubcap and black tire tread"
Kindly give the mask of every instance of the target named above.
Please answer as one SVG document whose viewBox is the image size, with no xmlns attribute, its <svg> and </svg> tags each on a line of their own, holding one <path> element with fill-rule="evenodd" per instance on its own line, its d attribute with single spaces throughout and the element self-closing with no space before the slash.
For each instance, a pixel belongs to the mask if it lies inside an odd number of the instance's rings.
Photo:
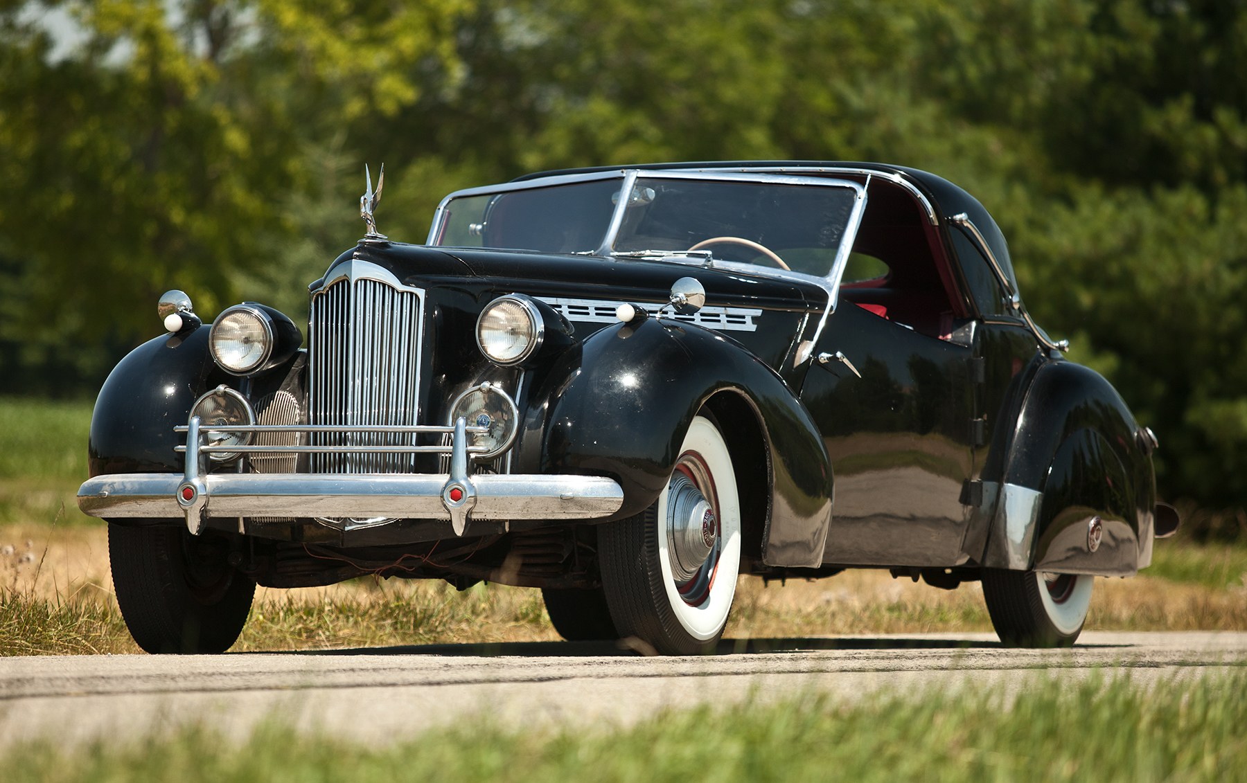
<svg viewBox="0 0 1247 783">
<path fill-rule="evenodd" d="M 695 416 L 658 499 L 602 525 L 597 557 L 615 630 L 662 655 L 696 655 L 723 635 L 741 569 L 741 504 L 718 428 Z"/>
</svg>

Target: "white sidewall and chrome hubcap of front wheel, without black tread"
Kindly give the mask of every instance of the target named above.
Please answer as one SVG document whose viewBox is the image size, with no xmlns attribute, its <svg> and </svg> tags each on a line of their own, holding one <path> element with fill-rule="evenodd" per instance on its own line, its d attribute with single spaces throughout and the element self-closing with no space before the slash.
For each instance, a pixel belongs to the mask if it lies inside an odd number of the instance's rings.
<svg viewBox="0 0 1247 783">
<path fill-rule="evenodd" d="M 707 419 L 693 419 L 657 511 L 667 603 L 693 638 L 713 638 L 736 595 L 741 509 L 727 444 Z"/>
</svg>

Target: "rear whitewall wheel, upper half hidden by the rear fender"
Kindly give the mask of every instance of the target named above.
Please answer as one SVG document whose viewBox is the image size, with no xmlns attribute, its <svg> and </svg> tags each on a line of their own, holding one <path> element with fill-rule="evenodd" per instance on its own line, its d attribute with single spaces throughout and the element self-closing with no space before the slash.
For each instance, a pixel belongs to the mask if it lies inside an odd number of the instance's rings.
<svg viewBox="0 0 1247 783">
<path fill-rule="evenodd" d="M 1040 571 L 983 572 L 983 597 L 1009 647 L 1070 647 L 1082 632 L 1095 577 Z"/>
</svg>

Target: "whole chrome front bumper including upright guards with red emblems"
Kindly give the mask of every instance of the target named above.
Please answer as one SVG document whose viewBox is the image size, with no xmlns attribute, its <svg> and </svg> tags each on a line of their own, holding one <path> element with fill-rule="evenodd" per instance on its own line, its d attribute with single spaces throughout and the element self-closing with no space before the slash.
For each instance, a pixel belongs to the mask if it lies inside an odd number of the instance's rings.
<svg viewBox="0 0 1247 783">
<path fill-rule="evenodd" d="M 178 428 L 183 429 L 183 428 Z M 289 428 L 202 428 L 207 431 L 263 431 Z M 328 428 L 323 428 L 328 429 Z M 611 479 L 580 475 L 470 475 L 464 419 L 448 428 L 408 428 L 451 435 L 449 474 L 257 474 L 207 473 L 212 451 L 252 453 L 256 446 L 206 446 L 198 418 L 185 428 L 186 471 L 108 474 L 79 489 L 79 507 L 102 519 L 176 519 L 198 535 L 209 517 L 313 517 L 446 520 L 463 535 L 470 519 L 576 520 L 610 516 L 624 505 L 624 490 Z M 294 450 L 284 448 L 283 450 Z M 304 448 L 297 448 L 304 450 Z M 183 450 L 183 448 L 178 448 Z M 329 450 L 309 448 L 307 450 Z M 337 450 L 337 449 L 335 449 Z M 352 450 L 352 449 L 342 449 Z M 440 448 L 380 448 L 387 451 Z"/>
</svg>

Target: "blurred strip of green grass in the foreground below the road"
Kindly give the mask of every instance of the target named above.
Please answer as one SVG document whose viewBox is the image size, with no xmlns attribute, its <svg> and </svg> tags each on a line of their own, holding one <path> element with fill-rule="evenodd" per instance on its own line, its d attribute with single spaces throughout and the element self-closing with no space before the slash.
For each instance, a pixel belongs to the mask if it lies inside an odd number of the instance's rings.
<svg viewBox="0 0 1247 783">
<path fill-rule="evenodd" d="M 1067 682 L 1067 681 L 1062 681 Z M 209 728 L 0 753 L 26 781 L 1232 781 L 1247 769 L 1247 672 L 1139 686 L 884 692 L 843 703 L 667 712 L 633 727 L 504 728 L 488 717 L 365 746 L 268 723 L 238 747 Z M 228 752 L 222 752 L 227 747 Z"/>
</svg>

